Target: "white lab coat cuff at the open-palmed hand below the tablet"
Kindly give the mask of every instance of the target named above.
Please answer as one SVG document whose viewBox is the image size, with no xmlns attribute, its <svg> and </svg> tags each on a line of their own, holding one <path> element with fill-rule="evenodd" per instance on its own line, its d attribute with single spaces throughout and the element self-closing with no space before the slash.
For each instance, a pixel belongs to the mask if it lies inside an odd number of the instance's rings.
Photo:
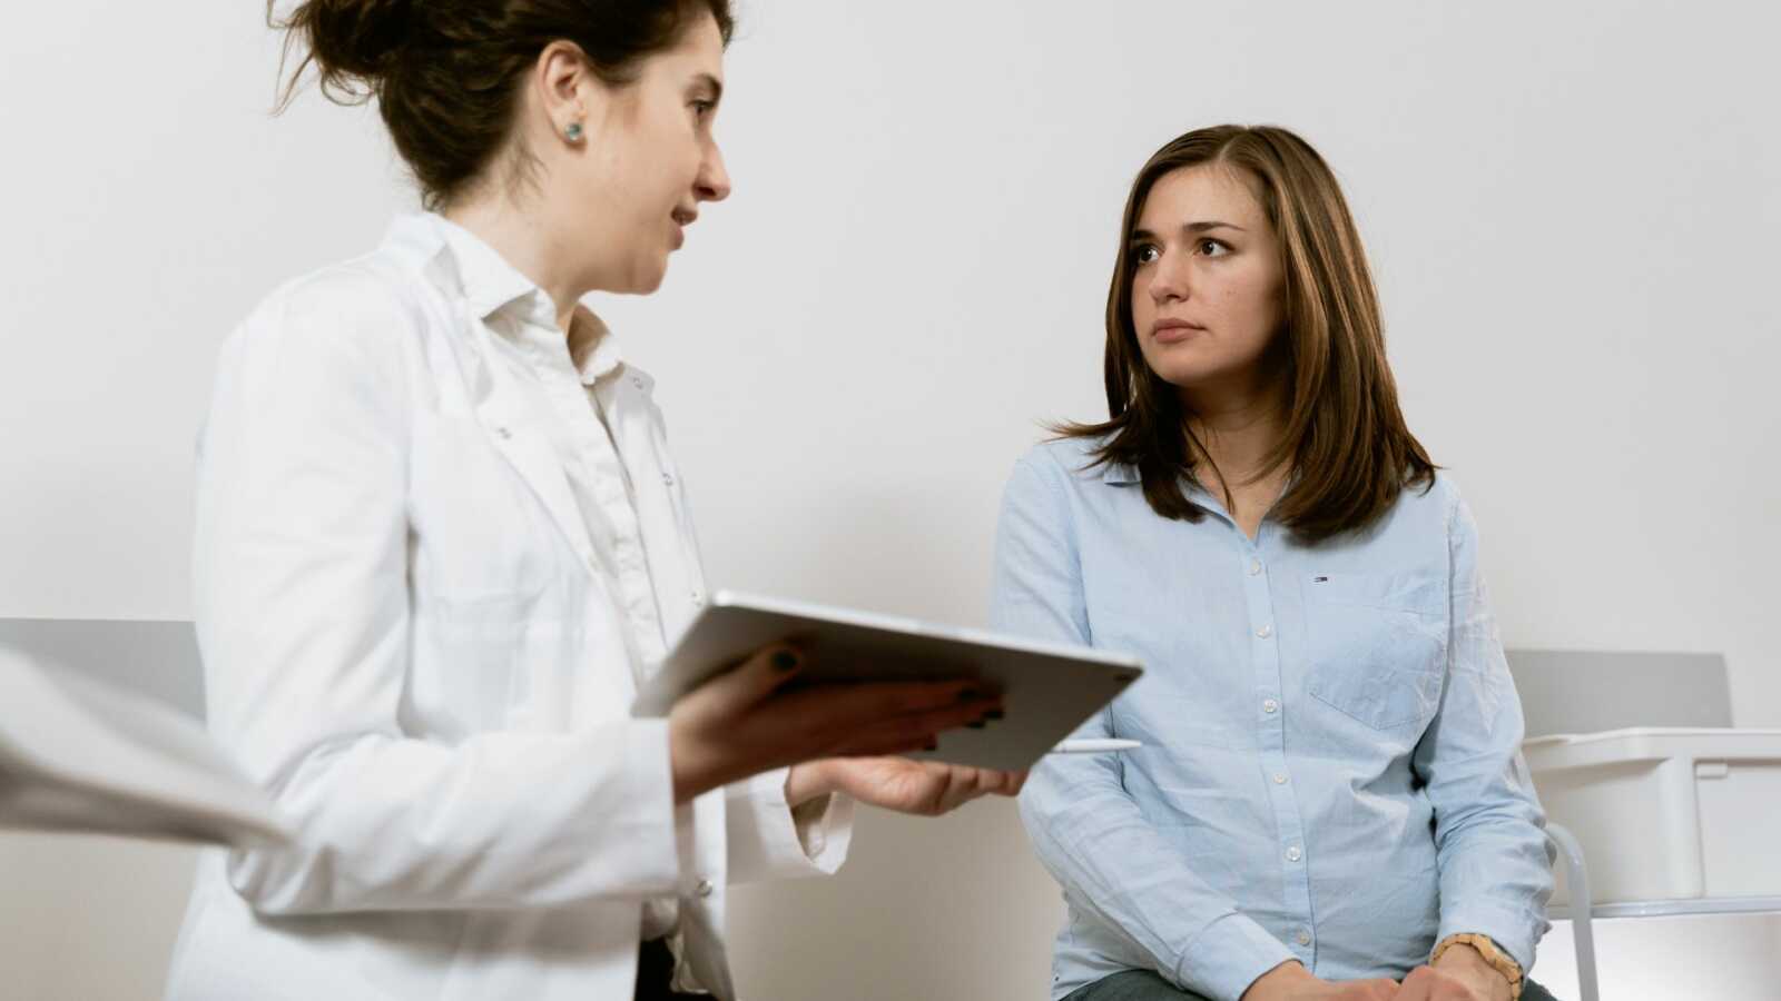
<svg viewBox="0 0 1781 1001">
<path fill-rule="evenodd" d="M 793 810 L 785 802 L 787 771 L 728 787 L 730 882 L 826 876 L 846 862 L 853 800 L 832 793 Z"/>
</svg>

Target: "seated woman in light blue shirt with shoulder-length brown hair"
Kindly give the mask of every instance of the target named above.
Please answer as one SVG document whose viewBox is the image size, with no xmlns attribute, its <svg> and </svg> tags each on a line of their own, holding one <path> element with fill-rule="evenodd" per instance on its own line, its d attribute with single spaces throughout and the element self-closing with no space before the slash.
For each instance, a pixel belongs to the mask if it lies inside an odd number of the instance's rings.
<svg viewBox="0 0 1781 1001">
<path fill-rule="evenodd" d="M 1549 997 L 1551 857 L 1471 513 L 1403 424 L 1329 166 L 1163 146 L 1108 296 L 1111 419 L 1015 467 L 992 618 L 1149 673 L 1021 802 L 1053 997 Z"/>
</svg>

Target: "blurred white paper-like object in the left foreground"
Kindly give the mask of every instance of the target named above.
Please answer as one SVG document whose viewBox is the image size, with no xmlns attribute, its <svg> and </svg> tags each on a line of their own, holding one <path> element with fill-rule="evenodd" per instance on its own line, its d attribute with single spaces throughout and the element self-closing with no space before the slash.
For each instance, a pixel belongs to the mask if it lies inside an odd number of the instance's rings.
<svg viewBox="0 0 1781 1001">
<path fill-rule="evenodd" d="M 0 647 L 0 828 L 278 844 L 290 828 L 205 728 Z"/>
</svg>

